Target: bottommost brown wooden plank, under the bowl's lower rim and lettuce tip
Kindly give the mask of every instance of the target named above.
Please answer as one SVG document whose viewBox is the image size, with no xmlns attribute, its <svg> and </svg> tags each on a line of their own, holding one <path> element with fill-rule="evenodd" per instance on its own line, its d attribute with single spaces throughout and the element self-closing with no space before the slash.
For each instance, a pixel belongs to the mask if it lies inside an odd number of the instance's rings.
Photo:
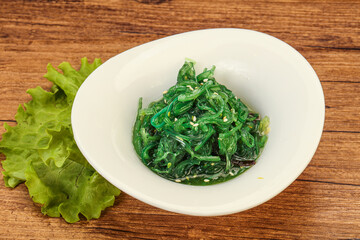
<svg viewBox="0 0 360 240">
<path fill-rule="evenodd" d="M 123 193 L 99 220 L 76 224 L 43 216 L 23 185 L 10 190 L 0 182 L 0 194 L 0 232 L 16 239 L 350 239 L 360 234 L 360 188 L 354 186 L 296 181 L 256 208 L 206 218 L 160 210 Z"/>
</svg>

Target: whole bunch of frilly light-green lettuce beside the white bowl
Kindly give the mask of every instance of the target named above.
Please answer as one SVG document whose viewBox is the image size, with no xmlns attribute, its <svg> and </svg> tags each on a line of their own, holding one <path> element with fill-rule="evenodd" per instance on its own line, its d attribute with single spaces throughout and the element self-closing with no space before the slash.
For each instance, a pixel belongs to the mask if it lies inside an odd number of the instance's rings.
<svg viewBox="0 0 360 240">
<path fill-rule="evenodd" d="M 71 107 L 84 80 L 101 65 L 81 59 L 76 71 L 68 62 L 51 64 L 45 77 L 53 82 L 50 91 L 29 89 L 32 100 L 20 105 L 15 115 L 17 125 L 4 124 L 0 141 L 4 182 L 14 188 L 25 182 L 34 202 L 50 217 L 62 216 L 67 222 L 99 218 L 112 206 L 120 191 L 101 177 L 78 149 L 71 128 Z"/>
</svg>

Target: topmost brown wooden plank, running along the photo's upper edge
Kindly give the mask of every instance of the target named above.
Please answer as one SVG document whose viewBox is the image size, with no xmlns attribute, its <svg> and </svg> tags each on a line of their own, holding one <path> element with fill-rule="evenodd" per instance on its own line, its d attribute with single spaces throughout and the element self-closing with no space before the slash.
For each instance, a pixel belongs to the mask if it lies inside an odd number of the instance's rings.
<svg viewBox="0 0 360 240">
<path fill-rule="evenodd" d="M 8 1 L 0 8 L 0 25 L 7 42 L 22 41 L 23 36 L 49 43 L 104 41 L 126 32 L 168 36 L 195 29 L 237 27 L 270 33 L 295 47 L 359 48 L 359 2 L 221 0 L 201 4 L 205 2 L 174 0 L 151 5 L 135 1 Z M 16 8 L 19 3 L 22 8 Z M 94 18 L 94 14 L 101 17 Z"/>
</svg>

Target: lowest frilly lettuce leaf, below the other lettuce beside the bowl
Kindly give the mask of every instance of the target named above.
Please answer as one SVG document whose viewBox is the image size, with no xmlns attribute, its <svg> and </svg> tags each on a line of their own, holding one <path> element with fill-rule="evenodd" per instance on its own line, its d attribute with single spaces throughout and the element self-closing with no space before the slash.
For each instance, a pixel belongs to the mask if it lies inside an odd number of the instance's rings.
<svg viewBox="0 0 360 240">
<path fill-rule="evenodd" d="M 96 171 L 67 159 L 64 167 L 49 165 L 37 159 L 26 169 L 26 186 L 34 202 L 42 204 L 41 212 L 67 222 L 99 218 L 101 210 L 112 206 L 118 190 Z"/>
</svg>

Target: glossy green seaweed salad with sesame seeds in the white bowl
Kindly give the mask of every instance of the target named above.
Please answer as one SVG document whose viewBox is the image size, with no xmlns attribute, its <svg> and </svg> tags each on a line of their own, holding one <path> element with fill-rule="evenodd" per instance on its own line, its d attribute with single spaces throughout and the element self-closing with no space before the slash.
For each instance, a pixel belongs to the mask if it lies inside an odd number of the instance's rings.
<svg viewBox="0 0 360 240">
<path fill-rule="evenodd" d="M 214 78 L 215 66 L 196 75 L 186 61 L 176 85 L 142 106 L 133 144 L 142 162 L 175 182 L 209 185 L 253 166 L 267 141 L 269 118 L 248 108 Z"/>
</svg>

